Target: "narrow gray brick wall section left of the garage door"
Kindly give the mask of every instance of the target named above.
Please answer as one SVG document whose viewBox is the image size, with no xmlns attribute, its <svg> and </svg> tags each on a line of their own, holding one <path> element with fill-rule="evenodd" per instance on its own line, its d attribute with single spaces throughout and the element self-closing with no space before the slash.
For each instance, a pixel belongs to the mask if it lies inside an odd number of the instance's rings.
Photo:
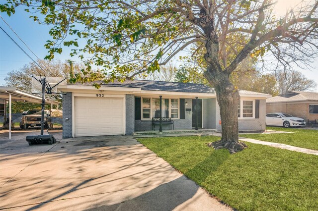
<svg viewBox="0 0 318 211">
<path fill-rule="evenodd" d="M 68 118 L 68 120 L 66 120 Z M 63 95 L 63 138 L 72 138 L 72 92 Z"/>
</svg>

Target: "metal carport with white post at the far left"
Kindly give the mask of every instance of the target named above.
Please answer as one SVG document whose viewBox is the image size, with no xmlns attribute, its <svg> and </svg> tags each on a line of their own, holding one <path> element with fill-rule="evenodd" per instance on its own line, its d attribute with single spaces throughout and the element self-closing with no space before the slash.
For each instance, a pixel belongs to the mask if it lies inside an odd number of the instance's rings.
<svg viewBox="0 0 318 211">
<path fill-rule="evenodd" d="M 29 102 L 29 103 L 42 103 L 42 97 L 33 95 L 28 92 L 24 92 L 22 90 L 18 90 L 15 87 L 3 87 L 0 86 L 0 114 L 4 115 L 4 122 L 7 118 L 7 112 L 6 112 L 6 104 L 8 102 L 9 104 L 9 139 L 11 139 L 11 102 L 12 101 L 18 101 L 18 102 Z M 45 99 L 45 104 L 51 104 L 51 109 L 53 108 L 53 105 L 57 105 L 57 108 L 59 109 L 60 102 L 51 100 L 51 99 Z M 3 106 L 2 106 L 3 105 Z M 2 108 L 3 107 L 3 108 Z M 3 125 L 4 125 L 3 122 Z"/>
</svg>

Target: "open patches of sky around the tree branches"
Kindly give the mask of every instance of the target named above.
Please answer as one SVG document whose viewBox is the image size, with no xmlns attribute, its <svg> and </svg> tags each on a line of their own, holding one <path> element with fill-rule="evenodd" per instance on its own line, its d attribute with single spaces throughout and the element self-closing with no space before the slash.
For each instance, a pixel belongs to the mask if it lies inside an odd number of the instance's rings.
<svg viewBox="0 0 318 211">
<path fill-rule="evenodd" d="M 300 0 L 278 0 L 275 6 L 276 15 L 284 15 L 286 9 L 295 6 Z M 50 40 L 49 35 L 50 26 L 40 25 L 35 23 L 31 18 L 31 14 L 26 13 L 22 8 L 17 8 L 16 13 L 10 17 L 6 13 L 1 13 L 3 19 L 11 26 L 11 28 L 22 38 L 22 40 L 29 46 L 29 48 L 39 57 L 44 58 L 47 55 L 47 50 L 44 44 Z M 32 54 L 23 43 L 14 35 L 9 27 L 0 20 L 0 26 L 17 42 L 24 51 L 26 51 L 34 60 L 36 56 Z M 62 54 L 55 54 L 55 58 L 62 61 L 72 59 L 80 61 L 77 57 L 70 57 L 70 49 L 63 49 Z M 23 65 L 32 62 L 32 60 L 19 49 L 11 40 L 0 31 L 0 85 L 4 85 L 4 78 L 7 73 L 12 70 L 18 70 Z M 173 61 L 172 61 L 173 62 Z M 275 62 L 273 60 L 273 62 Z M 306 70 L 295 66 L 294 69 L 301 70 L 302 73 L 309 79 L 313 79 L 318 84 L 318 59 L 312 64 L 315 69 Z M 318 92 L 318 88 L 316 90 Z"/>
</svg>

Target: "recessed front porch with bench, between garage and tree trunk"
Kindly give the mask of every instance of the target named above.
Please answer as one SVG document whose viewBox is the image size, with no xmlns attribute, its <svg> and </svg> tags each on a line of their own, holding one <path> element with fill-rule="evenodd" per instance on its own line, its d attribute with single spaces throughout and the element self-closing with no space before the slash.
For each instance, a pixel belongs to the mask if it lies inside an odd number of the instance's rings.
<svg viewBox="0 0 318 211">
<path fill-rule="evenodd" d="M 134 132 L 147 134 L 174 134 L 194 129 L 211 130 L 217 127 L 215 98 L 183 98 L 184 96 L 135 96 Z M 160 128 L 158 119 L 168 119 Z M 154 121 L 156 120 L 156 122 Z M 173 132 L 176 130 L 177 132 Z M 172 131 L 171 131 L 172 130 Z M 192 133 L 192 132 L 190 132 Z"/>
</svg>

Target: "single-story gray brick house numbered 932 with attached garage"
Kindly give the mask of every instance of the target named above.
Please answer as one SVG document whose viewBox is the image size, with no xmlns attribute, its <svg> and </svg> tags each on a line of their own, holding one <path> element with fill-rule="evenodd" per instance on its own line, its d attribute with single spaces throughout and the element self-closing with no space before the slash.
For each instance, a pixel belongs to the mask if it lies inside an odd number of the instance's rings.
<svg viewBox="0 0 318 211">
<path fill-rule="evenodd" d="M 131 135 L 135 131 L 152 130 L 152 118 L 174 121 L 174 129 L 198 127 L 221 130 L 220 108 L 214 89 L 203 84 L 127 80 L 123 83 L 76 83 L 59 86 L 67 94 L 63 98 L 63 137 Z M 239 130 L 265 130 L 265 100 L 270 95 L 239 91 Z M 196 97 L 198 106 L 195 106 Z M 163 125 L 170 130 L 170 125 Z M 158 125 L 156 127 L 158 130 Z"/>
</svg>

